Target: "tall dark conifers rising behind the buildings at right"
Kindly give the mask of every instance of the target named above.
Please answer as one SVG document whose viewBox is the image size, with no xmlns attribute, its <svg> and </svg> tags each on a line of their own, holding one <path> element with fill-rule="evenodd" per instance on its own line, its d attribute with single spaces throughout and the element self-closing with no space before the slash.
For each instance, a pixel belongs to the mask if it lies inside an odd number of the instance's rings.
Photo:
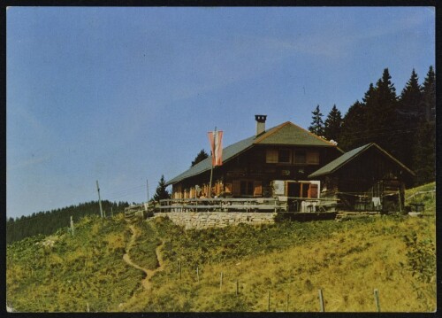
<svg viewBox="0 0 442 318">
<path fill-rule="evenodd" d="M 336 105 L 324 124 L 318 114 L 322 116 L 316 105 L 309 130 L 321 131 L 320 136 L 336 141 L 343 151 L 377 143 L 415 171 L 415 181 L 408 186 L 435 180 L 436 81 L 432 66 L 422 84 L 413 69 L 400 95 L 385 68 L 376 84 L 370 83 L 362 101 L 356 100 L 344 117 Z"/>
</svg>

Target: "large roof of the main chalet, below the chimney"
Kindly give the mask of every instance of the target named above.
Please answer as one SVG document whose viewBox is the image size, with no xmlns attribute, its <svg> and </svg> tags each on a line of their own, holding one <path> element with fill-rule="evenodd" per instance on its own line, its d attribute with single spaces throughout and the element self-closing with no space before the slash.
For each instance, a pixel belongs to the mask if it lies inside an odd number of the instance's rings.
<svg viewBox="0 0 442 318">
<path fill-rule="evenodd" d="M 286 121 L 276 127 L 270 128 L 259 136 L 251 136 L 233 143 L 223 149 L 223 163 L 235 158 L 240 153 L 247 151 L 254 144 L 286 144 L 286 145 L 314 145 L 322 147 L 336 147 L 333 143 L 329 143 L 321 137 L 318 137 L 309 131 L 294 125 L 290 121 Z M 336 147 L 339 149 L 338 147 Z M 211 157 L 198 162 L 194 167 L 190 167 L 180 175 L 167 181 L 165 184 L 170 185 L 194 175 L 200 175 L 211 168 Z"/>
</svg>

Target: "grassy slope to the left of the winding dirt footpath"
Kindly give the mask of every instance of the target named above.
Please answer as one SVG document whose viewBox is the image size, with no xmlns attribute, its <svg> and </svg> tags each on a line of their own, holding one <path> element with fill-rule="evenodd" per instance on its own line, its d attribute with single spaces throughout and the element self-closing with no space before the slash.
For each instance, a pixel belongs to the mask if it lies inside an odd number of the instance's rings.
<svg viewBox="0 0 442 318">
<path fill-rule="evenodd" d="M 122 215 L 85 217 L 72 234 L 27 237 L 6 250 L 6 298 L 19 312 L 107 311 L 140 288 L 121 260 L 130 237 Z"/>
</svg>

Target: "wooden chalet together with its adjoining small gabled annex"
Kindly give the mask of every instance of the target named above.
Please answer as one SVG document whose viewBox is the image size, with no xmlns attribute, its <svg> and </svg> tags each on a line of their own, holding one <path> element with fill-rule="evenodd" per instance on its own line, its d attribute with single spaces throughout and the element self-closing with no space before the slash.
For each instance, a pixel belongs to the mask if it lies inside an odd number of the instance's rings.
<svg viewBox="0 0 442 318">
<path fill-rule="evenodd" d="M 330 198 L 347 211 L 401 210 L 415 174 L 377 144 L 344 153 L 290 121 L 266 130 L 266 117 L 255 115 L 254 136 L 225 147 L 210 197 L 293 198 L 295 211 L 305 211 L 304 198 Z M 208 198 L 210 169 L 211 157 L 167 181 L 172 198 Z"/>
</svg>

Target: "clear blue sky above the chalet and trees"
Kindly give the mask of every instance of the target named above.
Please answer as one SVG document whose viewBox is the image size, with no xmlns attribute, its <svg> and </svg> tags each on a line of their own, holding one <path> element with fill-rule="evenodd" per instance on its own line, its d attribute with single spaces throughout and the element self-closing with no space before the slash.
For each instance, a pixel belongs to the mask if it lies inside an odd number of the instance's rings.
<svg viewBox="0 0 442 318">
<path fill-rule="evenodd" d="M 429 7 L 10 7 L 7 216 L 143 202 L 161 175 L 311 111 L 344 114 L 389 68 L 398 94 L 435 65 Z"/>
</svg>

